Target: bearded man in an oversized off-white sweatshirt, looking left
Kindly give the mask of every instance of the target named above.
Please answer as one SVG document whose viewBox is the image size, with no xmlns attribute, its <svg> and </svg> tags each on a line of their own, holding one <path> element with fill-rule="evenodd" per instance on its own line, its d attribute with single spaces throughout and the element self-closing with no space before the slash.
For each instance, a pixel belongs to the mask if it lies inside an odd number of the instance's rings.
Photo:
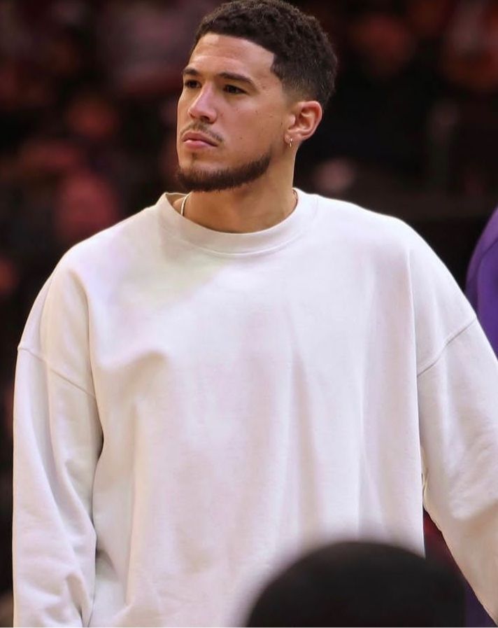
<svg viewBox="0 0 498 628">
<path fill-rule="evenodd" d="M 17 624 L 221 625 L 324 540 L 423 552 L 498 617 L 498 364 L 403 223 L 292 189 L 335 59 L 278 0 L 206 17 L 186 196 L 75 246 L 20 342 Z M 422 482 L 423 478 L 423 482 Z"/>
</svg>

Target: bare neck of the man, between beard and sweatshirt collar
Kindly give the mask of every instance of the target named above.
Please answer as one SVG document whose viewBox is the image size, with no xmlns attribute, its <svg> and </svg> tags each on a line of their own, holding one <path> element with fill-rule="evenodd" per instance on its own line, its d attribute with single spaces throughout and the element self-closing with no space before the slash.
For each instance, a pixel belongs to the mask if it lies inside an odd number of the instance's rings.
<svg viewBox="0 0 498 628">
<path fill-rule="evenodd" d="M 296 207 L 292 178 L 286 183 L 266 177 L 233 190 L 192 192 L 185 202 L 185 218 L 214 231 L 249 233 L 285 220 Z M 175 209 L 180 211 L 181 200 Z"/>
</svg>

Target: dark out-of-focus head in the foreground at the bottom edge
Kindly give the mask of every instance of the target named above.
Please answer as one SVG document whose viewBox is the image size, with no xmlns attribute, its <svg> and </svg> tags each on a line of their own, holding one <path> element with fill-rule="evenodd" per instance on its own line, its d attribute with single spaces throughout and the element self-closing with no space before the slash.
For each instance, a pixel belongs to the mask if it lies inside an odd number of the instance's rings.
<svg viewBox="0 0 498 628">
<path fill-rule="evenodd" d="M 463 626 L 464 587 L 445 564 L 384 543 L 319 547 L 278 573 L 247 626 Z"/>
</svg>

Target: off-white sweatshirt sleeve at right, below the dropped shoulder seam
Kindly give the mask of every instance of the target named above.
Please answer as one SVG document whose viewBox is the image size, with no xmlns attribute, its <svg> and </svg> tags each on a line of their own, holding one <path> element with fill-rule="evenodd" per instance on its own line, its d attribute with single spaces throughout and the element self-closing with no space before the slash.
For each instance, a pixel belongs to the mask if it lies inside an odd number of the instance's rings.
<svg viewBox="0 0 498 628">
<path fill-rule="evenodd" d="M 498 619 L 498 362 L 476 321 L 418 377 L 424 501 Z"/>
</svg>

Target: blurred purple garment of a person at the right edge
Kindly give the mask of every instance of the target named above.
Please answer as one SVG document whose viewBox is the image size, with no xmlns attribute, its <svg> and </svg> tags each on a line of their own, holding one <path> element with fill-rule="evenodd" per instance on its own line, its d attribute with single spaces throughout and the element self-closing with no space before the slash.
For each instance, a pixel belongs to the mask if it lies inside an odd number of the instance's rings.
<svg viewBox="0 0 498 628">
<path fill-rule="evenodd" d="M 465 292 L 498 355 L 498 207 L 472 254 Z"/>
</svg>

